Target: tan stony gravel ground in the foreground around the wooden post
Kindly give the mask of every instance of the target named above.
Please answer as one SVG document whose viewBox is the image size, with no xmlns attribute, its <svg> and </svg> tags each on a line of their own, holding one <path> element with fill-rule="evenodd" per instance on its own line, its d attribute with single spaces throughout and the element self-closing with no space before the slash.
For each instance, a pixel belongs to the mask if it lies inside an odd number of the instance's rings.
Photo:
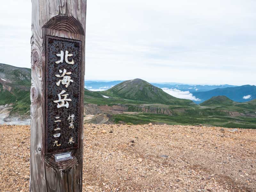
<svg viewBox="0 0 256 192">
<path fill-rule="evenodd" d="M 256 130 L 84 125 L 83 191 L 256 191 Z M 30 127 L 0 125 L 0 191 L 29 191 Z"/>
</svg>

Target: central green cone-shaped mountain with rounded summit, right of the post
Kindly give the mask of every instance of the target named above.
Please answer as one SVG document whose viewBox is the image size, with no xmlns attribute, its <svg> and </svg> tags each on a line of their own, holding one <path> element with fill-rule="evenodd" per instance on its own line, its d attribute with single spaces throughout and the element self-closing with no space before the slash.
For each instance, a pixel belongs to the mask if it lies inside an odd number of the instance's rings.
<svg viewBox="0 0 256 192">
<path fill-rule="evenodd" d="M 141 79 L 124 81 L 102 92 L 110 97 L 128 100 L 144 101 L 146 103 L 161 103 L 166 105 L 195 105 L 191 100 L 178 99 L 164 92 L 162 89 Z"/>
</svg>

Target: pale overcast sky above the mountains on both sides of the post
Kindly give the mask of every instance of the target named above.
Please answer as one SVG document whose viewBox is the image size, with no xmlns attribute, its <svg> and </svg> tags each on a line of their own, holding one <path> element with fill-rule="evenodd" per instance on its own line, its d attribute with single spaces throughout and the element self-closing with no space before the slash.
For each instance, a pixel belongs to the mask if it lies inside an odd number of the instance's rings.
<svg viewBox="0 0 256 192">
<path fill-rule="evenodd" d="M 256 85 L 255 0 L 87 0 L 85 78 Z M 0 63 L 30 68 L 31 1 L 0 6 Z"/>
</svg>

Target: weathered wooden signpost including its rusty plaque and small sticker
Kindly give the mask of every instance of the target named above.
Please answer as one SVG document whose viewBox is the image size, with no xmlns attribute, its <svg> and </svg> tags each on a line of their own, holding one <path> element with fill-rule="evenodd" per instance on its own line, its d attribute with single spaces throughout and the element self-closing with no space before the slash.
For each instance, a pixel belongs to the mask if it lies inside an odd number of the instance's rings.
<svg viewBox="0 0 256 192">
<path fill-rule="evenodd" d="M 32 0 L 30 192 L 82 191 L 86 0 Z"/>
</svg>

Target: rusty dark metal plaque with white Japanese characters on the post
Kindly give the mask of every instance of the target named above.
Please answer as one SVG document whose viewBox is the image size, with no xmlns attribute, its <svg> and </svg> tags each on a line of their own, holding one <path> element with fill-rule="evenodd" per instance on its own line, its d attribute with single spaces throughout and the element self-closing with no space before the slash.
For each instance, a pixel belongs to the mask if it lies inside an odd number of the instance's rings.
<svg viewBox="0 0 256 192">
<path fill-rule="evenodd" d="M 46 155 L 79 146 L 81 73 L 81 41 L 46 36 Z"/>
</svg>

